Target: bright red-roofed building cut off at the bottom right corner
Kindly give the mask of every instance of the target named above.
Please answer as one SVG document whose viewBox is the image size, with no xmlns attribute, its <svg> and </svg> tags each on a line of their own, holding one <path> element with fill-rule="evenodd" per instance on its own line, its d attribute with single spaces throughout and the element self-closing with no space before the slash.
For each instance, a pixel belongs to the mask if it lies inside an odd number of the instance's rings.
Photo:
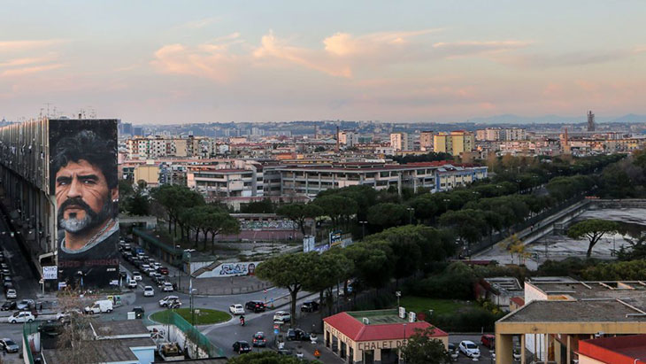
<svg viewBox="0 0 646 364">
<path fill-rule="evenodd" d="M 578 354 L 580 364 L 646 364 L 646 335 L 581 340 Z"/>
</svg>

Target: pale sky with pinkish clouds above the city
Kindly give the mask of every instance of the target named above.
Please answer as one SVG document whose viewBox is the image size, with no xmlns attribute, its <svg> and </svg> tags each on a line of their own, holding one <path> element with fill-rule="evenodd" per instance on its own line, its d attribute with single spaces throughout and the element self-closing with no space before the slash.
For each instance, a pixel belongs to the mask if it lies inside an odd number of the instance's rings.
<svg viewBox="0 0 646 364">
<path fill-rule="evenodd" d="M 135 123 L 646 113 L 643 0 L 0 6 L 7 120 L 48 103 Z"/>
</svg>

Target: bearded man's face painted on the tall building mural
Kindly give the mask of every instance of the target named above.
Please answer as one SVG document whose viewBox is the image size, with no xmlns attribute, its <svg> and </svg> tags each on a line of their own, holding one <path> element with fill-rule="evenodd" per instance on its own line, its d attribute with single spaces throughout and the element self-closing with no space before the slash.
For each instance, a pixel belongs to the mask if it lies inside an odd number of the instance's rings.
<svg viewBox="0 0 646 364">
<path fill-rule="evenodd" d="M 101 169 L 86 160 L 69 162 L 56 174 L 58 223 L 68 233 L 82 233 L 106 221 L 112 213 L 112 199 L 119 197 L 110 189 Z"/>
</svg>

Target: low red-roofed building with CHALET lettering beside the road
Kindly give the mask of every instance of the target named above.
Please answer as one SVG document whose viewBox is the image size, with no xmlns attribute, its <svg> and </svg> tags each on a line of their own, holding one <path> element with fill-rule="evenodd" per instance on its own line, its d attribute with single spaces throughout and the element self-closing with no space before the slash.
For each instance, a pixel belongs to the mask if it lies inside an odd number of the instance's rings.
<svg viewBox="0 0 646 364">
<path fill-rule="evenodd" d="M 323 319 L 326 347 L 349 363 L 396 363 L 399 348 L 427 321 L 406 321 L 396 310 L 342 312 Z M 432 337 L 449 346 L 449 334 L 435 328 Z"/>
</svg>

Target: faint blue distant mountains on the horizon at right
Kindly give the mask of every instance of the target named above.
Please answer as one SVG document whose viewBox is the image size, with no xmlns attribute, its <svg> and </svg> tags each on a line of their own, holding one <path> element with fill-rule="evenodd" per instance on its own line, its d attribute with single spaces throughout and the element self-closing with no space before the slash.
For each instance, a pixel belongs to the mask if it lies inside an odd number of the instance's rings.
<svg viewBox="0 0 646 364">
<path fill-rule="evenodd" d="M 600 117 L 596 116 L 597 123 L 603 122 L 621 122 L 621 123 L 642 123 L 646 122 L 646 115 L 637 115 L 629 113 L 619 117 Z M 519 116 L 513 114 L 504 114 L 489 116 L 484 118 L 473 118 L 467 120 L 476 124 L 576 124 L 588 122 L 586 115 L 577 117 L 572 116 L 559 116 L 559 115 L 542 115 L 542 116 Z"/>
</svg>

